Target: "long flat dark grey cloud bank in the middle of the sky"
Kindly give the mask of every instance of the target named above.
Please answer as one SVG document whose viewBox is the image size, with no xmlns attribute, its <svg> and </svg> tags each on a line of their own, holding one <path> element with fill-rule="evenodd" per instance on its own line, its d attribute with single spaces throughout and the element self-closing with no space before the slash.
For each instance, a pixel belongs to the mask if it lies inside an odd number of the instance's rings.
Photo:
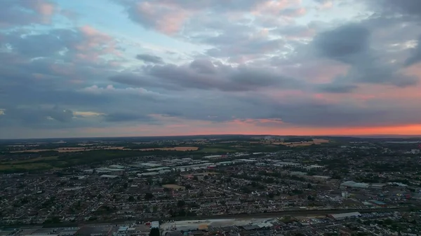
<svg viewBox="0 0 421 236">
<path fill-rule="evenodd" d="M 195 88 L 201 90 L 251 91 L 269 88 L 297 88 L 293 78 L 282 76 L 273 69 L 247 66 L 231 67 L 210 60 L 194 60 L 190 64 L 174 64 L 145 67 L 145 76 L 119 75 L 110 78 L 114 82 L 129 85 L 163 86 L 171 88 Z M 151 79 L 153 78 L 153 79 Z"/>
</svg>

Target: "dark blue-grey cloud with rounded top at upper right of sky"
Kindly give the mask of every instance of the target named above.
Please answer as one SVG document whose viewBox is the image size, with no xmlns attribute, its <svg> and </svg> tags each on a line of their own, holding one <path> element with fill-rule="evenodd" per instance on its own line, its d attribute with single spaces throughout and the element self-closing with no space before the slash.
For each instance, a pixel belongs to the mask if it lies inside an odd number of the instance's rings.
<svg viewBox="0 0 421 236">
<path fill-rule="evenodd" d="M 387 55 L 375 50 L 370 32 L 363 23 L 340 26 L 322 32 L 312 42 L 320 55 L 349 64 L 351 68 L 345 76 L 335 78 L 331 88 L 341 88 L 346 83 L 383 83 L 397 87 L 415 85 L 418 78 L 401 73 L 403 64 L 386 60 Z"/>
</svg>

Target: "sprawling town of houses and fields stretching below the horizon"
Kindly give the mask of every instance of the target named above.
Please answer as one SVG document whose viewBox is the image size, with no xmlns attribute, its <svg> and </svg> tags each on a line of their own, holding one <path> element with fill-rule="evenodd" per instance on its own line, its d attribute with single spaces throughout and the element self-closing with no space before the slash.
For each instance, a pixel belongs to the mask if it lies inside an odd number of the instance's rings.
<svg viewBox="0 0 421 236">
<path fill-rule="evenodd" d="M 4 141 L 0 235 L 148 235 L 151 228 L 416 235 L 419 145 L 339 137 Z"/>
</svg>

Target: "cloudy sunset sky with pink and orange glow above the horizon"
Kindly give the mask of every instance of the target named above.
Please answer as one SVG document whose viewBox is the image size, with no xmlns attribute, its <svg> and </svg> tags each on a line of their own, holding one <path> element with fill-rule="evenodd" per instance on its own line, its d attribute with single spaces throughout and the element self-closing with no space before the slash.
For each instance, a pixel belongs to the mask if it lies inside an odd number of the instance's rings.
<svg viewBox="0 0 421 236">
<path fill-rule="evenodd" d="M 421 134 L 420 0 L 1 0 L 0 139 Z"/>
</svg>

